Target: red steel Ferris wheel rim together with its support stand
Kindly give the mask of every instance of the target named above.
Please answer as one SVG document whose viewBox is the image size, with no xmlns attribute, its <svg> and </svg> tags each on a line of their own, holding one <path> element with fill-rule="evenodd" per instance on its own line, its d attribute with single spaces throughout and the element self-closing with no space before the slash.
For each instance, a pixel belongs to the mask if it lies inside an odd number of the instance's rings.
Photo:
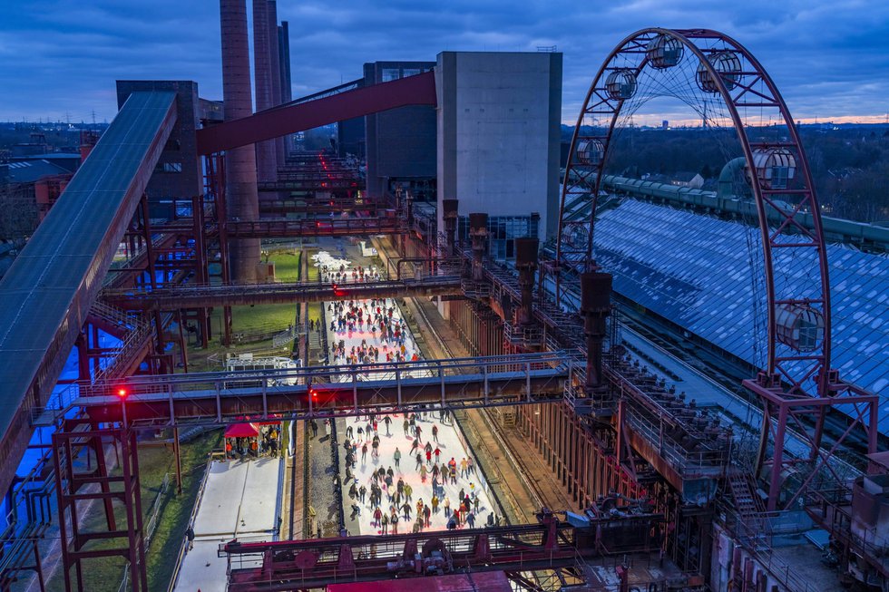
<svg viewBox="0 0 889 592">
<path fill-rule="evenodd" d="M 834 442 L 829 451 L 821 447 L 822 432 L 826 409 L 829 406 L 846 403 L 855 412 L 851 413 L 854 424 L 865 428 L 868 450 L 875 450 L 875 412 L 877 402 L 872 393 L 865 393 L 848 384 L 841 383 L 837 373 L 830 370 L 830 286 L 828 279 L 827 254 L 824 233 L 821 224 L 821 209 L 818 205 L 815 189 L 809 173 L 806 153 L 799 139 L 796 125 L 787 109 L 784 99 L 777 87 L 757 59 L 743 45 L 728 37 L 708 29 L 671 30 L 663 28 L 642 29 L 626 37 L 605 59 L 599 72 L 591 83 L 578 115 L 577 125 L 572 137 L 569 160 L 562 182 L 562 199 L 560 204 L 559 228 L 556 241 L 556 258 L 554 267 L 556 296 L 562 301 L 562 283 L 570 281 L 583 271 L 596 267 L 593 258 L 593 227 L 596 217 L 596 206 L 599 199 L 602 171 L 608 163 L 609 152 L 614 140 L 615 126 L 619 122 L 621 110 L 627 99 L 614 97 L 606 88 L 606 80 L 610 73 L 629 70 L 639 78 L 640 72 L 646 67 L 654 67 L 650 63 L 647 52 L 649 43 L 659 35 L 672 37 L 681 44 L 683 51 L 690 53 L 683 59 L 697 58 L 699 68 L 709 77 L 708 86 L 721 96 L 735 131 L 738 135 L 744 159 L 747 161 L 747 179 L 757 204 L 758 223 L 761 235 L 764 263 L 764 280 L 767 300 L 767 332 L 765 367 L 756 380 L 744 381 L 747 388 L 762 398 L 765 414 L 759 453 L 757 456 L 757 472 L 768 468 L 769 483 L 768 510 L 775 510 L 780 501 L 780 490 L 784 480 L 785 469 L 794 461 L 783 456 L 784 440 L 788 425 L 794 425 L 797 433 L 802 432 L 810 445 L 812 471 L 805 478 L 796 492 L 786 500 L 789 504 L 806 490 L 817 469 L 831 470 L 828 460 L 836 449 L 839 441 L 849 433 L 845 432 Z M 741 60 L 739 71 L 718 72 L 708 56 L 717 53 L 731 52 Z M 714 60 L 716 62 L 716 60 Z M 628 66 L 629 64 L 629 66 Z M 659 64 L 661 67 L 663 64 Z M 696 64 L 697 65 L 697 64 Z M 670 66 L 668 66 L 670 67 Z M 675 67 L 675 66 L 672 66 Z M 699 73 L 698 75 L 701 75 Z M 638 92 L 638 89 L 634 87 Z M 755 108 L 760 112 L 760 121 L 768 117 L 784 121 L 786 138 L 778 141 L 751 141 L 739 110 Z M 706 107 L 705 107 L 706 109 Z M 582 130 L 586 117 L 593 117 L 608 122 L 607 130 L 601 135 L 584 135 Z M 597 163 L 581 162 L 578 147 L 581 141 L 601 142 L 601 158 Z M 786 150 L 796 160 L 796 179 L 788 183 L 786 189 L 767 186 L 756 173 L 757 162 L 754 154 L 757 150 Z M 578 245 L 576 208 L 566 209 L 571 201 L 589 200 L 589 216 L 582 223 L 586 225 L 585 245 Z M 793 204 L 787 207 L 786 204 Z M 804 214 L 811 216 L 811 228 L 803 221 Z M 772 220 L 770 225 L 769 220 Z M 777 223 L 774 221 L 777 219 Z M 572 235 L 572 236 L 568 236 Z M 787 272 L 789 257 L 783 257 L 787 249 L 799 249 L 796 253 L 812 251 L 812 266 L 807 269 L 810 285 L 808 293 L 801 294 L 803 288 L 791 282 L 782 281 L 779 289 L 776 283 L 776 271 Z M 808 260 L 808 259 L 806 259 Z M 756 273 L 756 272 L 755 272 Z M 790 288 L 788 290 L 788 288 Z M 779 294 L 788 290 L 791 294 Z M 782 343 L 778 335 L 777 312 L 779 307 L 816 310 L 824 320 L 824 335 L 811 351 L 797 351 L 786 343 Z M 761 335 L 756 335 L 761 339 Z M 840 396 L 844 395 L 844 396 Z M 807 422 L 801 416 L 808 414 Z M 814 429 L 811 427 L 814 425 Z M 851 427 L 850 427 L 851 430 Z M 771 444 L 771 446 L 770 446 Z M 771 452 L 769 453 L 769 450 Z"/>
</svg>

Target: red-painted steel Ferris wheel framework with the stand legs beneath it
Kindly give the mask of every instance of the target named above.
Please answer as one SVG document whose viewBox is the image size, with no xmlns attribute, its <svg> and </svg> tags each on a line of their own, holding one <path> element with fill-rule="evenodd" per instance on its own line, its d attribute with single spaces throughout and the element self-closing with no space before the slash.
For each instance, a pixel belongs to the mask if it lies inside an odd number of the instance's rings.
<svg viewBox="0 0 889 592">
<path fill-rule="evenodd" d="M 717 93 L 725 102 L 728 118 L 737 131 L 747 161 L 747 180 L 757 203 L 767 297 L 767 366 L 756 381 L 746 381 L 745 385 L 762 397 L 767 418 L 777 418 L 774 456 L 770 461 L 767 459 L 772 428 L 770 422 L 764 423 L 758 455 L 760 467 L 771 464 L 768 509 L 774 510 L 781 486 L 780 474 L 786 468 L 786 461 L 783 461 L 779 449 L 783 446 L 788 418 L 801 414 L 804 409 L 814 415 L 814 430 L 806 429 L 806 433 L 811 432 L 813 448 L 810 460 L 815 461 L 821 455 L 819 448 L 826 408 L 843 403 L 836 395 L 847 393 L 853 397 L 847 400 L 855 403 L 865 403 L 855 397 L 866 398 L 868 395 L 850 393 L 850 388 L 838 381 L 836 373 L 829 371 L 830 288 L 826 245 L 806 153 L 795 122 L 775 83 L 743 45 L 725 34 L 708 29 L 650 28 L 626 37 L 602 63 L 578 116 L 562 185 L 555 261 L 559 272 L 556 278 L 557 297 L 562 294 L 565 277 L 595 267 L 593 227 L 602 173 L 608 162 L 621 110 L 637 91 L 636 81 L 640 73 L 646 69 L 652 72 L 676 69 L 683 53 L 689 53 L 686 59 L 694 59 L 698 65 L 697 82 L 700 88 L 704 92 Z M 726 66 L 726 63 L 729 65 Z M 615 85 L 614 81 L 619 77 L 624 81 L 630 80 L 631 84 L 622 88 Z M 694 81 L 691 83 L 693 85 Z M 664 93 L 663 89 L 661 93 Z M 740 111 L 747 109 L 757 109 L 761 118 L 774 118 L 782 122 L 786 126 L 788 139 L 750 140 L 740 114 Z M 603 134 L 585 135 L 588 132 L 583 131 L 581 126 L 588 116 L 608 121 L 607 130 Z M 791 172 L 791 182 L 786 186 L 772 183 L 771 170 L 765 169 L 764 159 L 774 155 L 795 164 L 798 172 L 796 179 L 792 179 Z M 577 223 L 566 218 L 566 202 L 582 196 L 589 196 L 590 213 L 585 223 L 585 244 L 576 245 L 569 235 Z M 795 205 L 788 209 L 782 202 Z M 806 228 L 801 221 L 803 213 L 812 216 L 813 228 Z M 768 215 L 776 214 L 781 222 L 777 228 L 770 228 Z M 787 234 L 790 230 L 793 235 Z M 810 285 L 800 287 L 789 281 L 777 282 L 776 274 L 787 271 L 783 269 L 787 265 L 787 256 L 806 252 L 811 253 L 816 262 L 814 273 L 810 274 Z M 788 344 L 786 335 L 782 334 L 785 327 L 779 326 L 777 319 L 782 311 L 804 311 L 815 318 L 820 317 L 823 335 L 819 335 L 817 343 L 810 348 Z M 813 395 L 821 401 L 812 402 Z M 800 398 L 808 404 L 797 403 L 796 400 Z M 813 410 L 813 407 L 816 409 Z M 866 429 L 869 430 L 868 441 L 875 442 L 875 425 L 872 423 Z"/>
</svg>

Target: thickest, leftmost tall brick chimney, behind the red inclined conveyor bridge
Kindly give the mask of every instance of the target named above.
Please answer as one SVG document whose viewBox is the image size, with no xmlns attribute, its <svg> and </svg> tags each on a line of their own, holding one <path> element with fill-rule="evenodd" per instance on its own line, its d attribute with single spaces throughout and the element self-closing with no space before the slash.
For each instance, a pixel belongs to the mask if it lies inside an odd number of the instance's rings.
<svg viewBox="0 0 889 592">
<path fill-rule="evenodd" d="M 222 32 L 222 99 L 224 119 L 249 117 L 250 52 L 247 38 L 246 0 L 220 0 Z M 226 203 L 229 219 L 256 220 L 259 201 L 256 188 L 256 153 L 252 145 L 226 150 Z M 230 241 L 231 277 L 237 282 L 256 281 L 259 238 Z"/>
</svg>

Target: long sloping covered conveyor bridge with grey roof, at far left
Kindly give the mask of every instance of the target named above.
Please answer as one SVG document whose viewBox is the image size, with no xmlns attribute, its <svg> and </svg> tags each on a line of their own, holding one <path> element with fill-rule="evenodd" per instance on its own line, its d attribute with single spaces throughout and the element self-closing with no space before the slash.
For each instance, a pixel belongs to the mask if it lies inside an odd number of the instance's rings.
<svg viewBox="0 0 889 592">
<path fill-rule="evenodd" d="M 31 437 L 176 122 L 175 92 L 133 92 L 0 282 L 0 490 Z"/>
</svg>

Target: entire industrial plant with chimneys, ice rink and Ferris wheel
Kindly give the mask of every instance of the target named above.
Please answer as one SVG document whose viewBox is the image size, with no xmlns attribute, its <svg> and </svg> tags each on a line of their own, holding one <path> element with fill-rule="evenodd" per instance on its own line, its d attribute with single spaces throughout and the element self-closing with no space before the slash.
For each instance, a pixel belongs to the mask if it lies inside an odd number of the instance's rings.
<svg viewBox="0 0 889 592">
<path fill-rule="evenodd" d="M 293 100 L 251 8 L 221 102 L 117 82 L 0 281 L 0 590 L 889 591 L 889 239 L 742 44 L 630 34 L 560 167 L 561 53 Z M 608 168 L 670 83 L 718 192 Z"/>
</svg>

